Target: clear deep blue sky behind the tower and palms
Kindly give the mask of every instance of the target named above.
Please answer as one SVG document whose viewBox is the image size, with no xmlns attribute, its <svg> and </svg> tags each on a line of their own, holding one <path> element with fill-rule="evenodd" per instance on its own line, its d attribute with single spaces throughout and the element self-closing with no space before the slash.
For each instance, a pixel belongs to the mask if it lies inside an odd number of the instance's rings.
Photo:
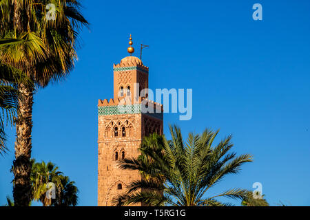
<svg viewBox="0 0 310 220">
<path fill-rule="evenodd" d="M 310 205 L 310 2 L 84 1 L 90 31 L 81 34 L 67 80 L 35 95 L 32 157 L 56 163 L 79 187 L 79 205 L 97 203 L 97 103 L 112 98 L 113 63 L 127 56 L 128 35 L 144 50 L 149 87 L 192 88 L 193 118 L 183 135 L 206 127 L 233 135 L 234 150 L 254 162 L 215 192 L 262 183 L 271 205 Z M 262 21 L 252 19 L 261 3 Z M 11 150 L 0 157 L 0 204 L 12 196 Z M 238 203 L 236 203 L 238 204 Z"/>
</svg>

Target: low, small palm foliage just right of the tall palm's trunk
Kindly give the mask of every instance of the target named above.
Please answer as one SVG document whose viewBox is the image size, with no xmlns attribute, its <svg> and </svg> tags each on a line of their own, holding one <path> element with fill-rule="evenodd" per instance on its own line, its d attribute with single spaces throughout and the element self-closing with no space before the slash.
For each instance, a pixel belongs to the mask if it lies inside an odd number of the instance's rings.
<svg viewBox="0 0 310 220">
<path fill-rule="evenodd" d="M 68 176 L 64 176 L 59 171 L 58 166 L 52 162 L 36 163 L 34 159 L 31 170 L 32 199 L 41 201 L 43 206 L 76 206 L 79 190 L 74 186 L 74 181 L 70 181 Z M 47 196 L 49 183 L 55 186 L 56 198 Z"/>
</svg>

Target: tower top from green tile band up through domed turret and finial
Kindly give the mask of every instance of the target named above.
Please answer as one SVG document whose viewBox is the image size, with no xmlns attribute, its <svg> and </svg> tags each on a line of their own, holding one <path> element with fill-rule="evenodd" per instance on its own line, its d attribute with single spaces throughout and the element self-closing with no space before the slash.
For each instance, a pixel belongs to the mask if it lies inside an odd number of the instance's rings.
<svg viewBox="0 0 310 220">
<path fill-rule="evenodd" d="M 141 59 L 132 56 L 134 47 L 131 35 L 129 44 L 127 51 L 130 56 L 113 65 L 114 97 L 110 100 L 99 99 L 98 114 L 101 116 L 142 113 L 145 117 L 163 120 L 163 104 L 148 98 L 149 67 L 143 65 Z"/>
</svg>

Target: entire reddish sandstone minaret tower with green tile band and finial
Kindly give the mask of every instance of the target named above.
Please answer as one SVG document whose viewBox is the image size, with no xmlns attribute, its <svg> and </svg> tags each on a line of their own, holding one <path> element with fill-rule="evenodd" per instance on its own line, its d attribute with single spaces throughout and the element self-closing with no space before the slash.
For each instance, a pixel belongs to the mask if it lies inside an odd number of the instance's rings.
<svg viewBox="0 0 310 220">
<path fill-rule="evenodd" d="M 128 52 L 133 51 L 130 46 Z M 99 100 L 98 206 L 112 206 L 127 184 L 141 179 L 138 172 L 121 170 L 116 162 L 138 157 L 143 137 L 163 134 L 163 105 L 147 99 L 148 76 L 149 68 L 139 58 L 127 56 L 114 65 L 114 98 Z M 145 106 L 154 111 L 145 112 Z"/>
</svg>

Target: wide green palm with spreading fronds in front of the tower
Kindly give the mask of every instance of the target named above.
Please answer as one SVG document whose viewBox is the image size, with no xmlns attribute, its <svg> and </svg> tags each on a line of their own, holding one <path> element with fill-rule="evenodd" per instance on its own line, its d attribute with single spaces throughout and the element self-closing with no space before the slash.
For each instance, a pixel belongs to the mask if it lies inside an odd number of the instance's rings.
<svg viewBox="0 0 310 220">
<path fill-rule="evenodd" d="M 149 178 L 143 177 L 129 184 L 127 192 L 114 198 L 116 206 L 140 202 L 149 206 L 227 206 L 229 203 L 222 203 L 218 198 L 247 197 L 248 191 L 241 188 L 209 195 L 212 186 L 226 175 L 238 173 L 242 164 L 252 161 L 251 155 L 229 153 L 233 147 L 231 135 L 213 146 L 219 131 L 206 129 L 201 135 L 189 133 L 187 142 L 184 142 L 178 126 L 169 126 L 169 129 L 170 141 L 158 135 L 145 138 L 140 148 L 144 159 L 125 158 L 118 162 L 119 168 L 139 170 Z M 145 143 L 156 140 L 157 150 L 154 151 L 156 144 L 145 146 Z"/>
</svg>

